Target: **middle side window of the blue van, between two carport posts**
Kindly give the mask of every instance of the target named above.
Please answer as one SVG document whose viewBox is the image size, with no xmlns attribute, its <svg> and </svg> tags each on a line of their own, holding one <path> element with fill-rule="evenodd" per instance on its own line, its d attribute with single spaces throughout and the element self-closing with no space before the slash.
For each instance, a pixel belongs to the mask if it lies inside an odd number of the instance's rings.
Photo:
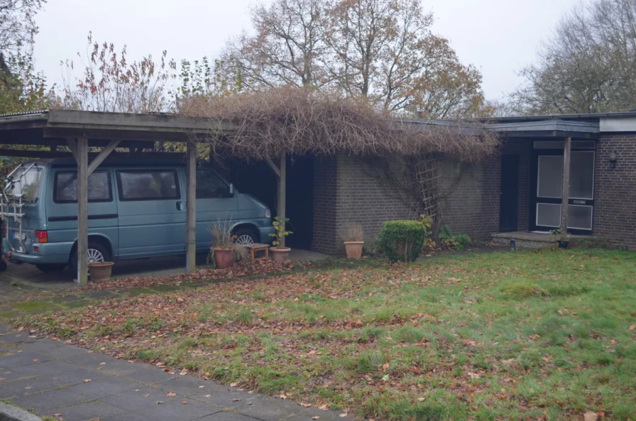
<svg viewBox="0 0 636 421">
<path fill-rule="evenodd" d="M 166 200 L 179 199 L 177 172 L 173 170 L 117 171 L 119 199 Z"/>
</svg>

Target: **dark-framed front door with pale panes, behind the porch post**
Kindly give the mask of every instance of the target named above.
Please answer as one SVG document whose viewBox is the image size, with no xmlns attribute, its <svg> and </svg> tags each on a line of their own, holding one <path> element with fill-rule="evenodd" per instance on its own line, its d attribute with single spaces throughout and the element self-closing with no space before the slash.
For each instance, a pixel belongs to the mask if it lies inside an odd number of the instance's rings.
<svg viewBox="0 0 636 421">
<path fill-rule="evenodd" d="M 530 208 L 530 229 L 550 231 L 561 225 L 563 192 L 562 142 L 534 142 L 534 200 Z M 554 148 L 547 148 L 552 146 Z M 537 148 L 539 146 L 540 148 Z M 594 141 L 573 141 L 570 158 L 568 231 L 591 234 L 594 209 Z"/>
</svg>

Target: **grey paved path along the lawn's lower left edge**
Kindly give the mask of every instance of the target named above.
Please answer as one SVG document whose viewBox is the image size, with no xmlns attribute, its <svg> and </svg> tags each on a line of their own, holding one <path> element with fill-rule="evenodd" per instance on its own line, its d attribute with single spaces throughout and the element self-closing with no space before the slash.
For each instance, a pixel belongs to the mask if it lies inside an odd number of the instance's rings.
<svg viewBox="0 0 636 421">
<path fill-rule="evenodd" d="M 0 398 L 64 421 L 352 420 L 0 326 Z M 170 395 L 169 395 L 170 394 Z M 172 395 L 175 394 L 175 395 Z"/>
</svg>

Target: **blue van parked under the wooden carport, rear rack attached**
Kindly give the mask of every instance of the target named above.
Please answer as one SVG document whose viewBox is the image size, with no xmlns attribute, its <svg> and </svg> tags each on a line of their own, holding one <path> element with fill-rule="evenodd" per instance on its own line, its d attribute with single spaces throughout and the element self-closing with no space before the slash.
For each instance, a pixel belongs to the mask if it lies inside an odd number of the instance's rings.
<svg viewBox="0 0 636 421">
<path fill-rule="evenodd" d="M 89 263 L 185 254 L 186 168 L 165 161 L 106 160 L 88 180 Z M 77 273 L 77 164 L 23 163 L 0 192 L 2 249 L 9 261 Z M 270 209 L 197 168 L 197 252 L 212 246 L 209 226 L 229 220 L 240 244 L 269 243 Z"/>
</svg>

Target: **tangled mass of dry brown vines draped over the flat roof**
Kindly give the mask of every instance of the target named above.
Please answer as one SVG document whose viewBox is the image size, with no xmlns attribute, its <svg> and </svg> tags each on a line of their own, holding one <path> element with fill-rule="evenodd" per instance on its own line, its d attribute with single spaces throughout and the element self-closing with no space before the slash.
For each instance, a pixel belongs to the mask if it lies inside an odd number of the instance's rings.
<svg viewBox="0 0 636 421">
<path fill-rule="evenodd" d="M 283 87 L 231 97 L 191 97 L 182 114 L 209 121 L 212 153 L 248 160 L 280 155 L 421 155 L 443 153 L 478 161 L 493 153 L 498 136 L 476 123 L 425 124 L 392 118 L 364 99 L 312 89 Z M 231 136 L 217 136 L 223 122 L 236 125 Z M 194 135 L 193 135 L 194 136 Z"/>
</svg>

